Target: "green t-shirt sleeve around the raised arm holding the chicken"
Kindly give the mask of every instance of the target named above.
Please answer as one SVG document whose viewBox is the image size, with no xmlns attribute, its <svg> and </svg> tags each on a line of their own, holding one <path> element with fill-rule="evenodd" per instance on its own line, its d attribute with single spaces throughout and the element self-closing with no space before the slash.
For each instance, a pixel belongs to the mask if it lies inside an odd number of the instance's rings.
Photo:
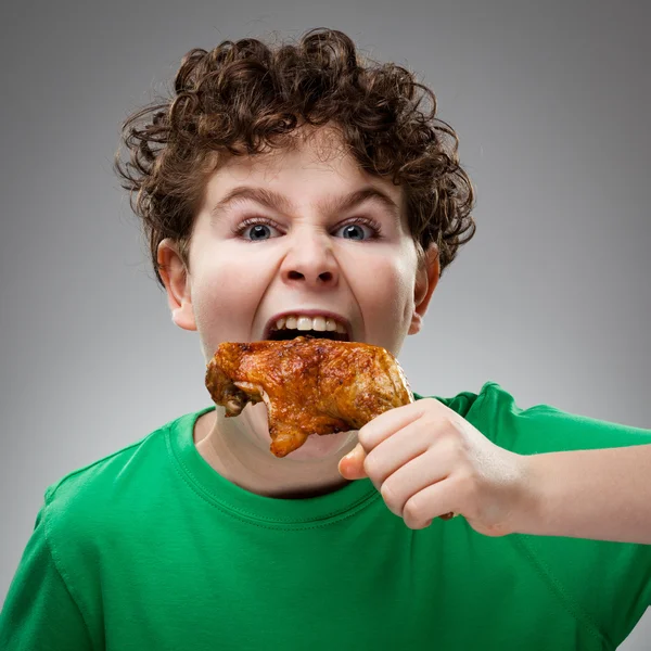
<svg viewBox="0 0 651 651">
<path fill-rule="evenodd" d="M 567 413 L 548 405 L 520 409 L 498 384 L 480 406 L 486 436 L 522 455 L 650 445 L 651 431 Z M 515 535 L 565 607 L 588 618 L 613 647 L 651 605 L 651 545 Z"/>
</svg>

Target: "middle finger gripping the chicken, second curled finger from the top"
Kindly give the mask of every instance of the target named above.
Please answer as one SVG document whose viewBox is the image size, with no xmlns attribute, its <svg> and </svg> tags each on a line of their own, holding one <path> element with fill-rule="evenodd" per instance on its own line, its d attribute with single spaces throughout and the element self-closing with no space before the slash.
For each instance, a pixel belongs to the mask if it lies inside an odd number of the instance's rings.
<svg viewBox="0 0 651 651">
<path fill-rule="evenodd" d="M 378 490 L 390 475 L 422 455 L 436 439 L 433 427 L 419 421 L 385 438 L 367 455 L 365 470 Z"/>
</svg>

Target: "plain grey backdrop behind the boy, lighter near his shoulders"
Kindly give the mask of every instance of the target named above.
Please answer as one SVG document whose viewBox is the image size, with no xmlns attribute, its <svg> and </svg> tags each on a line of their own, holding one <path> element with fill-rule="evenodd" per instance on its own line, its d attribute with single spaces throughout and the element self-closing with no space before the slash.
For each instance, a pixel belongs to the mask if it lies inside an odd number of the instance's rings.
<svg viewBox="0 0 651 651">
<path fill-rule="evenodd" d="M 23 2 L 2 10 L 0 597 L 46 487 L 209 404 L 111 159 L 180 58 L 347 33 L 416 71 L 458 130 L 477 233 L 401 362 L 419 393 L 651 427 L 646 2 Z M 651 648 L 651 612 L 623 649 Z"/>
</svg>

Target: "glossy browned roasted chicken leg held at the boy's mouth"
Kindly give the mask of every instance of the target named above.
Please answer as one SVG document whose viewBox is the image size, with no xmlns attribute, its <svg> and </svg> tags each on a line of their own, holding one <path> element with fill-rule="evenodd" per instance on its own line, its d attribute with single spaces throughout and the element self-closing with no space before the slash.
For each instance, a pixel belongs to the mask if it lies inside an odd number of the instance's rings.
<svg viewBox="0 0 651 651">
<path fill-rule="evenodd" d="M 413 401 L 388 350 L 311 336 L 222 343 L 207 365 L 206 387 L 227 417 L 264 400 L 277 457 L 299 448 L 310 434 L 359 430 L 380 413 Z"/>
</svg>

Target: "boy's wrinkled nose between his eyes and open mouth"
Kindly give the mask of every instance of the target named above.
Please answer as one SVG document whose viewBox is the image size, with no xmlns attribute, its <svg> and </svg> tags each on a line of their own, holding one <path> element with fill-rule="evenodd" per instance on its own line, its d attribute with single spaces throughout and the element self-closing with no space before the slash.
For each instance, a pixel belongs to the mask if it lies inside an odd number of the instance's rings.
<svg viewBox="0 0 651 651">
<path fill-rule="evenodd" d="M 339 266 L 326 233 L 296 235 L 281 265 L 285 283 L 303 283 L 309 289 L 335 286 Z"/>
</svg>

